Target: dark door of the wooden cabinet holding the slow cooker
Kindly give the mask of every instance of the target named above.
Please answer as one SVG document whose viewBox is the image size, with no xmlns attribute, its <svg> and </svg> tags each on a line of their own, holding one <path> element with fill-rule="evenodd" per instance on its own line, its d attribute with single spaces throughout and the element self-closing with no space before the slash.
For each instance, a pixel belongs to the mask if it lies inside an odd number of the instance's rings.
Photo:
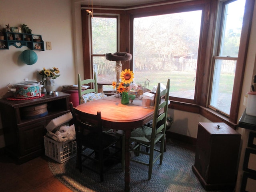
<svg viewBox="0 0 256 192">
<path fill-rule="evenodd" d="M 18 129 L 20 155 L 43 150 L 46 121 L 31 124 Z"/>
</svg>

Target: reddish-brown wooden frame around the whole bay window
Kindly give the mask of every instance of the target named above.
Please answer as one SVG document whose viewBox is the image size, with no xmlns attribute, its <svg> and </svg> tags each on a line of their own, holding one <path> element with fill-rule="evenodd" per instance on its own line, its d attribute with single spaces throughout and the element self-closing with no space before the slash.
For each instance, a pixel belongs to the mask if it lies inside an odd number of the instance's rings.
<svg viewBox="0 0 256 192">
<path fill-rule="evenodd" d="M 212 78 L 212 59 L 213 59 L 213 47 L 214 47 L 214 34 L 216 27 L 216 15 L 218 10 L 218 1 L 212 0 L 196 0 L 196 1 L 169 1 L 166 4 L 152 3 L 145 4 L 146 6 L 133 6 L 133 7 L 106 7 L 94 6 L 94 14 L 119 14 L 120 16 L 120 52 L 129 52 L 131 54 L 133 50 L 133 19 L 134 17 L 152 16 L 155 14 L 174 13 L 190 10 L 202 10 L 201 32 L 198 50 L 198 67 L 196 72 L 196 86 L 195 86 L 195 99 L 189 100 L 184 98 L 170 97 L 172 101 L 170 108 L 183 110 L 188 112 L 194 112 L 201 114 L 212 122 L 226 122 L 229 126 L 237 126 L 238 110 L 241 99 L 242 83 L 244 79 L 244 70 L 246 63 L 246 56 L 248 50 L 248 42 L 250 38 L 250 27 L 252 24 L 252 14 L 254 8 L 254 0 L 246 0 L 244 22 L 241 31 L 240 49 L 237 59 L 237 67 L 235 71 L 235 79 L 232 104 L 230 108 L 229 118 L 223 116 L 219 112 L 216 112 L 209 108 L 209 96 Z M 85 11 L 84 11 L 85 12 Z M 86 14 L 86 13 L 84 13 Z M 88 34 L 84 32 L 88 31 L 88 24 L 86 19 L 83 18 L 82 10 L 82 32 L 83 32 L 83 54 L 84 54 L 84 76 L 88 73 L 88 65 L 92 65 L 90 60 L 90 51 L 86 50 L 90 46 L 90 40 Z M 87 38 L 87 39 L 86 39 Z M 86 44 L 88 43 L 88 44 Z M 132 70 L 132 62 L 124 62 L 123 68 L 130 68 Z M 92 74 L 92 69 L 91 72 Z M 90 75 L 89 75 L 90 76 Z"/>
</svg>

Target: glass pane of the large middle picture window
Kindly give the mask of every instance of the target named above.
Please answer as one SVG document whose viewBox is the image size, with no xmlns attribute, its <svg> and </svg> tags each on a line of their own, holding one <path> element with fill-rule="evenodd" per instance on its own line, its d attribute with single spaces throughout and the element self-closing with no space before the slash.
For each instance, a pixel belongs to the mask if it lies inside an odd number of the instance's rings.
<svg viewBox="0 0 256 192">
<path fill-rule="evenodd" d="M 201 17 L 196 10 L 134 18 L 135 81 L 149 79 L 152 90 L 170 78 L 170 96 L 194 100 Z"/>
</svg>

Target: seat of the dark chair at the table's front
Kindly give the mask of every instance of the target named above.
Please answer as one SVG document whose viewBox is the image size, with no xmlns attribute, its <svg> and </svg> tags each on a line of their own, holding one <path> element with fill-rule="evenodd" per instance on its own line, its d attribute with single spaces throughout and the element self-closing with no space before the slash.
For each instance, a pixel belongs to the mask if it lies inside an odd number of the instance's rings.
<svg viewBox="0 0 256 192">
<path fill-rule="evenodd" d="M 100 149 L 100 136 L 98 133 L 89 133 L 82 137 L 82 145 L 87 146 L 93 150 Z M 110 134 L 102 134 L 102 148 L 103 150 L 108 149 L 110 146 L 116 144 L 121 140 L 121 137 L 113 136 Z"/>
</svg>

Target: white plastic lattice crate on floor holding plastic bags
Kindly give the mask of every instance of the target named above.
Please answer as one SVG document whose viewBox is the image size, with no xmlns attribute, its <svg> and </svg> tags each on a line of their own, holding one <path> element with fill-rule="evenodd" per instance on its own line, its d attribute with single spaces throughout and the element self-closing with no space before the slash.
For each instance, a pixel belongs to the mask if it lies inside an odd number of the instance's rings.
<svg viewBox="0 0 256 192">
<path fill-rule="evenodd" d="M 57 142 L 47 136 L 44 136 L 44 151 L 46 156 L 59 163 L 63 163 L 76 156 L 76 140 Z"/>
</svg>

